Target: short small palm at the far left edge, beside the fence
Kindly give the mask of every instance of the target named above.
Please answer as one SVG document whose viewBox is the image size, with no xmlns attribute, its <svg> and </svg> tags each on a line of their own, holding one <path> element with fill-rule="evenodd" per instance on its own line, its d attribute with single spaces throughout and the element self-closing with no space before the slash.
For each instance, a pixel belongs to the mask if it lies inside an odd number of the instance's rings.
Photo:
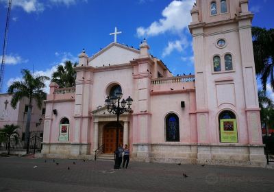
<svg viewBox="0 0 274 192">
<path fill-rule="evenodd" d="M 4 125 L 3 129 L 0 130 L 1 137 L 6 137 L 8 139 L 8 154 L 10 154 L 10 140 L 13 138 L 15 143 L 18 143 L 18 125 Z"/>
</svg>

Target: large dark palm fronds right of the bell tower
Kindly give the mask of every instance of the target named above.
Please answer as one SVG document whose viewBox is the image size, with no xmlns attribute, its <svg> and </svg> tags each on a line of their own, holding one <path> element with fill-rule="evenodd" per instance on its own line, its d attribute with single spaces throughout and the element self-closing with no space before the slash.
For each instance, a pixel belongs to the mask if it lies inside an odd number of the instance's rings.
<svg viewBox="0 0 274 192">
<path fill-rule="evenodd" d="M 274 29 L 252 27 L 252 36 L 256 74 L 264 90 L 268 81 L 274 90 Z"/>
</svg>

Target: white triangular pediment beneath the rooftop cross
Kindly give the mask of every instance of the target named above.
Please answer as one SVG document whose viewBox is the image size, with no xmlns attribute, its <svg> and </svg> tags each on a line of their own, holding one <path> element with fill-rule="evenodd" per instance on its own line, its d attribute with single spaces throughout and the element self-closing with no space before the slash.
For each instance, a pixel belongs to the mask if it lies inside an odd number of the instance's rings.
<svg viewBox="0 0 274 192">
<path fill-rule="evenodd" d="M 103 67 L 115 64 L 125 64 L 134 58 L 139 58 L 140 51 L 119 43 L 111 43 L 88 59 L 88 65 Z"/>
</svg>

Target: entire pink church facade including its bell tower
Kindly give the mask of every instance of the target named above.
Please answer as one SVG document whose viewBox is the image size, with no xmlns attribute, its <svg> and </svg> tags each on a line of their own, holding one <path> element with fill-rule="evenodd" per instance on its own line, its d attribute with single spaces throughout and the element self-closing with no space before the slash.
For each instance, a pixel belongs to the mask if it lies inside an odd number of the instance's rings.
<svg viewBox="0 0 274 192">
<path fill-rule="evenodd" d="M 42 156 L 112 154 L 116 115 L 104 101 L 118 87 L 134 99 L 119 121 L 132 160 L 264 166 L 248 1 L 197 0 L 191 14 L 195 75 L 173 77 L 146 40 L 80 53 L 76 87 L 50 85 Z"/>
</svg>

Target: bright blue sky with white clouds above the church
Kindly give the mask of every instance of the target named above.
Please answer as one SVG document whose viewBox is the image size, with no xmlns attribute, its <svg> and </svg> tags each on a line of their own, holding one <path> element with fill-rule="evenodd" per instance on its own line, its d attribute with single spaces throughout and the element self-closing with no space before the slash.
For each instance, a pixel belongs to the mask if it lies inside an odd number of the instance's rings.
<svg viewBox="0 0 274 192">
<path fill-rule="evenodd" d="M 192 38 L 188 31 L 194 0 L 13 0 L 2 92 L 21 77 L 21 69 L 51 75 L 64 60 L 77 61 L 112 43 L 114 27 L 122 32 L 118 43 L 138 48 L 147 38 L 151 54 L 174 75 L 194 73 Z M 8 0 L 0 0 L 2 51 Z M 250 0 L 253 26 L 273 28 L 274 1 Z"/>
</svg>

